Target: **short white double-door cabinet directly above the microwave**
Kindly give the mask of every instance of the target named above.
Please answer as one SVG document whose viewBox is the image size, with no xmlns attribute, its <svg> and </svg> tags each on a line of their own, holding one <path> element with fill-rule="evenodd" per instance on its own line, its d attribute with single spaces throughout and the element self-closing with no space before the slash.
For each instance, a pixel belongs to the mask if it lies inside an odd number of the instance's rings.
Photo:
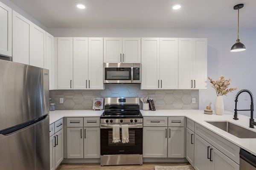
<svg viewBox="0 0 256 170">
<path fill-rule="evenodd" d="M 104 38 L 104 62 L 140 63 L 140 38 Z"/>
</svg>

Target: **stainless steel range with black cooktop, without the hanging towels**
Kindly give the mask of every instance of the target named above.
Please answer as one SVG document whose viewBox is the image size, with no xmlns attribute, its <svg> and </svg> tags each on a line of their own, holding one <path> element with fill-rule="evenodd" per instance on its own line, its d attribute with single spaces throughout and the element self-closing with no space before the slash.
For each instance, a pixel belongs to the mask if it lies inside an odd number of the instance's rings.
<svg viewBox="0 0 256 170">
<path fill-rule="evenodd" d="M 128 125 L 129 142 L 113 143 L 113 125 Z M 105 98 L 105 111 L 100 120 L 100 164 L 142 164 L 143 116 L 138 97 Z"/>
</svg>

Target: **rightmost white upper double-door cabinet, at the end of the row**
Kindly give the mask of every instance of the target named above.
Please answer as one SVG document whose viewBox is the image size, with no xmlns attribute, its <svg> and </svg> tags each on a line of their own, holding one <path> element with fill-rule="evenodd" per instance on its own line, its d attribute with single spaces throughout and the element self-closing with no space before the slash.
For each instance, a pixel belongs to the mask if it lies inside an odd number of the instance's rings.
<svg viewBox="0 0 256 170">
<path fill-rule="evenodd" d="M 179 38 L 179 89 L 207 88 L 207 39 Z"/>
</svg>

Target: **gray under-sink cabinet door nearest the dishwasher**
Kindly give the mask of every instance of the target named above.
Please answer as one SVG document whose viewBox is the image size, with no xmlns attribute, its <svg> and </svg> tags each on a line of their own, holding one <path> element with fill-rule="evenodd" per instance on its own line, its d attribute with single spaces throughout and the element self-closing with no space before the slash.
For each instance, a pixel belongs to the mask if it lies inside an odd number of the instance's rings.
<svg viewBox="0 0 256 170">
<path fill-rule="evenodd" d="M 239 170 L 239 164 L 232 161 L 215 147 L 212 147 L 212 167 L 211 170 Z"/>
</svg>

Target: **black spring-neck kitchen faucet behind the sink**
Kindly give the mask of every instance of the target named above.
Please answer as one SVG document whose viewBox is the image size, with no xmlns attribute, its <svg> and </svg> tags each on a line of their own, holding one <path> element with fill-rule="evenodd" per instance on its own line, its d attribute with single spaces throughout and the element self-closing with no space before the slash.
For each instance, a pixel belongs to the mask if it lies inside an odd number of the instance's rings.
<svg viewBox="0 0 256 170">
<path fill-rule="evenodd" d="M 238 96 L 241 93 L 243 93 L 243 92 L 247 92 L 250 95 L 250 98 L 251 98 L 250 110 L 237 110 Z M 236 102 L 236 106 L 235 106 L 235 113 L 234 113 L 233 119 L 238 120 L 238 118 L 237 118 L 237 111 L 250 111 L 250 122 L 249 122 L 250 124 L 249 124 L 249 127 L 254 128 L 254 125 L 256 126 L 256 122 L 254 122 L 254 119 L 253 119 L 253 94 L 252 94 L 252 92 L 250 92 L 247 89 L 243 89 L 243 90 L 239 91 L 236 94 L 235 102 Z"/>
</svg>

